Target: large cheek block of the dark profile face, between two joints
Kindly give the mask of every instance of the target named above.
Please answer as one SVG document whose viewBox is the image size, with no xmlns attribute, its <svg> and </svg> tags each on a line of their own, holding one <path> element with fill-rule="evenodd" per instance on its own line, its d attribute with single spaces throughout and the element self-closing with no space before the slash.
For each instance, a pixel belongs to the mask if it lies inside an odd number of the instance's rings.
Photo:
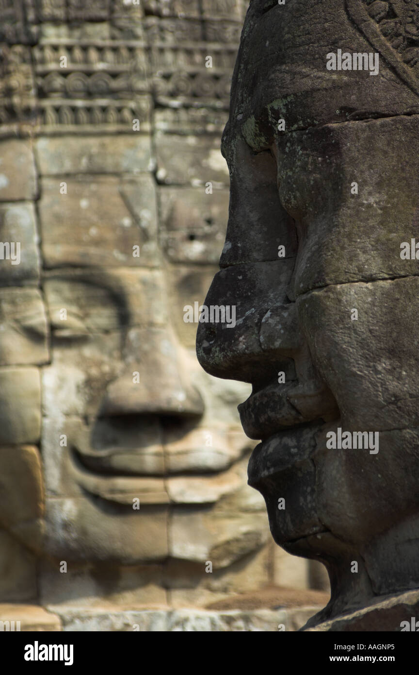
<svg viewBox="0 0 419 675">
<path fill-rule="evenodd" d="M 419 427 L 412 349 L 418 293 L 419 278 L 408 277 L 329 286 L 298 299 L 300 325 L 322 379 L 335 392 L 343 429 Z"/>
</svg>

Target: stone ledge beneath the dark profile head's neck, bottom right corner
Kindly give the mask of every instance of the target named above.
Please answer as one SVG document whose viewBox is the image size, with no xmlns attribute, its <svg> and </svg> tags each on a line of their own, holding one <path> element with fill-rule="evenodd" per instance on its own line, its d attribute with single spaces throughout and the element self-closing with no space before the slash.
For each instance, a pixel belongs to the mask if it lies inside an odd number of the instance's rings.
<svg viewBox="0 0 419 675">
<path fill-rule="evenodd" d="M 319 615 L 316 615 L 319 616 Z M 302 632 L 400 632 L 401 622 L 411 624 L 412 617 L 419 619 L 419 589 L 397 593 L 397 595 L 381 595 L 356 612 L 336 616 L 335 618 L 316 623 L 313 616 Z"/>
</svg>

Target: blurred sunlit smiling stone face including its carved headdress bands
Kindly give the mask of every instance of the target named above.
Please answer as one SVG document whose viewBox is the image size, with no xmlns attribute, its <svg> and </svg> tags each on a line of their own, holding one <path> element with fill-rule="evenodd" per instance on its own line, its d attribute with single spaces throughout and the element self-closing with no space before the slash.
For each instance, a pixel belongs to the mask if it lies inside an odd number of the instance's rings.
<svg viewBox="0 0 419 675">
<path fill-rule="evenodd" d="M 0 28 L 4 601 L 205 604 L 271 570 L 249 387 L 202 372 L 183 320 L 225 236 L 242 4 L 48 3 Z"/>
</svg>

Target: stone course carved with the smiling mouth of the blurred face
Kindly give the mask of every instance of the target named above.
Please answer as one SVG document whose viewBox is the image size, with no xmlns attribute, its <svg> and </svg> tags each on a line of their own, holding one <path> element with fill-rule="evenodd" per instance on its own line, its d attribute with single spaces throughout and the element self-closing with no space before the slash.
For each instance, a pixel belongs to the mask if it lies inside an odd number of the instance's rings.
<svg viewBox="0 0 419 675">
<path fill-rule="evenodd" d="M 223 443 L 214 437 L 212 447 L 198 445 L 197 441 L 202 443 L 210 433 L 205 429 L 192 431 L 176 444 L 166 443 L 157 420 L 143 423 L 140 429 L 133 425 L 131 437 L 129 430 L 125 433 L 123 447 L 117 444 L 121 439 L 112 443 L 115 431 L 115 425 L 106 421 L 98 421 L 92 428 L 81 418 L 44 418 L 42 456 L 47 493 L 81 496 L 87 489 L 109 501 L 131 505 L 134 497 L 140 504 L 210 504 L 222 495 L 231 495 L 232 510 L 261 510 L 263 502 L 249 488 L 245 488 L 246 498 L 254 503 L 250 509 L 241 493 L 238 501 L 232 495 L 245 483 L 247 458 L 239 464 L 235 461 L 246 449 L 242 435 L 234 452 L 234 445 L 228 445 L 225 437 Z M 67 446 L 61 445 L 63 442 Z M 179 475 L 186 471 L 195 475 Z M 203 474 L 209 471 L 213 475 Z M 106 472 L 119 478 L 106 477 Z M 146 478 L 156 474 L 165 480 Z"/>
</svg>

